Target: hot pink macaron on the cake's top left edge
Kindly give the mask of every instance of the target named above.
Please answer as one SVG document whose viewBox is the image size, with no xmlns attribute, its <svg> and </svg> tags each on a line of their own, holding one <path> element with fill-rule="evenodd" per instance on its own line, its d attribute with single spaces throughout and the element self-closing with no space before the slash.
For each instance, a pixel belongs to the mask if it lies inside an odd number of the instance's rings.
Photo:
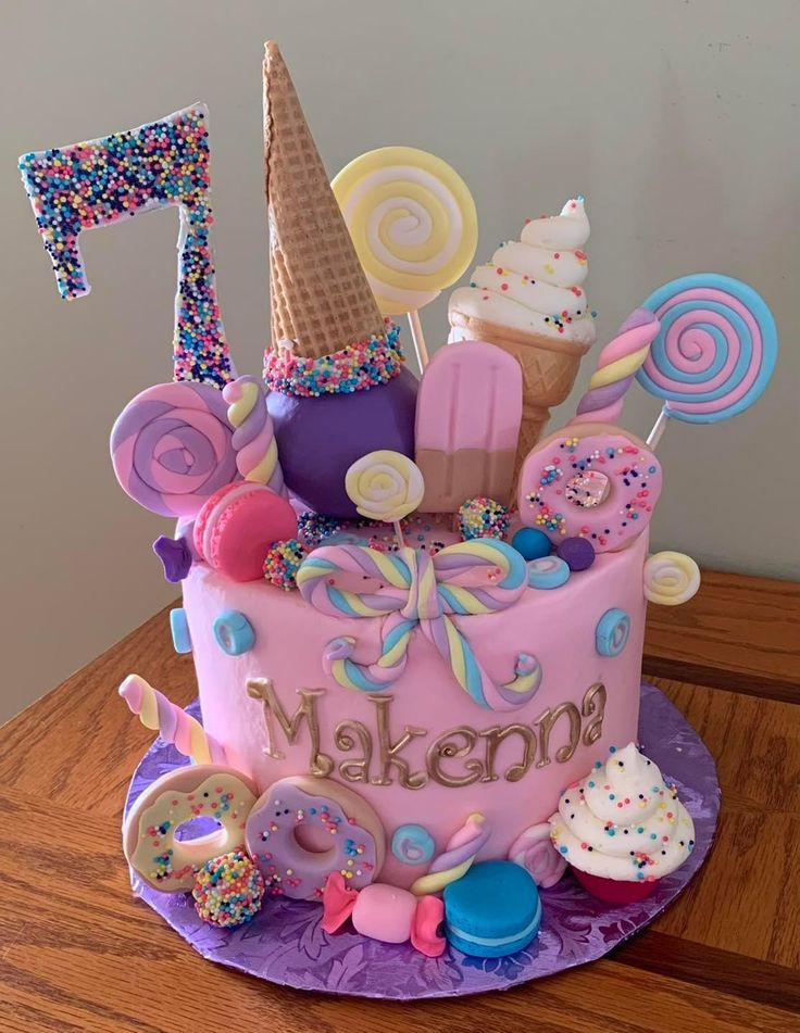
<svg viewBox="0 0 800 1033">
<path fill-rule="evenodd" d="M 234 581 L 258 580 L 270 546 L 296 536 L 297 515 L 286 499 L 251 481 L 221 488 L 195 521 L 198 555 Z"/>
</svg>

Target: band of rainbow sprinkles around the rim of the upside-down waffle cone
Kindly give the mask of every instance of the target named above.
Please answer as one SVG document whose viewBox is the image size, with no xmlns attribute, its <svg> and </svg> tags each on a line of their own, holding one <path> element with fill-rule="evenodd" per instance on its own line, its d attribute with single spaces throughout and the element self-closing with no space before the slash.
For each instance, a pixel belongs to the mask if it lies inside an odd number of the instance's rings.
<svg viewBox="0 0 800 1033">
<path fill-rule="evenodd" d="M 400 328 L 387 322 L 386 333 L 348 344 L 322 358 L 303 358 L 289 348 L 264 354 L 264 380 L 273 391 L 299 398 L 351 394 L 386 383 L 405 361 L 399 342 Z"/>
</svg>

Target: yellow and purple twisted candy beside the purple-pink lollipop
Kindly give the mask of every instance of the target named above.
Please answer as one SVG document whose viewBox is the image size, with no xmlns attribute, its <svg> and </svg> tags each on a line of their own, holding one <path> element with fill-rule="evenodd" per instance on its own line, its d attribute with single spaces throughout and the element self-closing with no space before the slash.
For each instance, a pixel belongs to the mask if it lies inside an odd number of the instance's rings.
<svg viewBox="0 0 800 1033">
<path fill-rule="evenodd" d="M 245 480 L 285 494 L 275 428 L 261 383 L 255 377 L 238 377 L 223 388 L 222 396 L 228 403 L 228 423 L 234 428 L 236 468 Z"/>
</svg>

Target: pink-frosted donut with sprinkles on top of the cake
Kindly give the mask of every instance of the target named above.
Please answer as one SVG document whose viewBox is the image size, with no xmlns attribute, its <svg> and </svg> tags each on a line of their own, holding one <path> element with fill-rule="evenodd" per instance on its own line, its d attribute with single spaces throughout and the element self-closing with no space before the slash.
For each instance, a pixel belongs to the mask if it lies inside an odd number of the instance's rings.
<svg viewBox="0 0 800 1033">
<path fill-rule="evenodd" d="M 558 544 L 586 538 L 595 552 L 629 545 L 650 522 L 661 464 L 634 434 L 573 424 L 536 444 L 520 477 L 520 517 Z"/>
</svg>

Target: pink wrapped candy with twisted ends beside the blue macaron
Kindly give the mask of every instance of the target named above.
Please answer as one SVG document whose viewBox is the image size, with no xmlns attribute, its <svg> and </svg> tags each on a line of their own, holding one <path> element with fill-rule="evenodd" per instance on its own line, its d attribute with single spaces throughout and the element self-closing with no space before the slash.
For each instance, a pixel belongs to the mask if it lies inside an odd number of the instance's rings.
<svg viewBox="0 0 800 1033">
<path fill-rule="evenodd" d="M 410 940 L 421 954 L 438 958 L 445 938 L 438 927 L 445 917 L 445 905 L 438 897 L 415 897 L 408 890 L 373 883 L 357 892 L 345 883 L 341 872 L 332 872 L 323 893 L 322 928 L 333 933 L 348 918 L 362 936 L 382 943 L 405 943 Z"/>
</svg>

